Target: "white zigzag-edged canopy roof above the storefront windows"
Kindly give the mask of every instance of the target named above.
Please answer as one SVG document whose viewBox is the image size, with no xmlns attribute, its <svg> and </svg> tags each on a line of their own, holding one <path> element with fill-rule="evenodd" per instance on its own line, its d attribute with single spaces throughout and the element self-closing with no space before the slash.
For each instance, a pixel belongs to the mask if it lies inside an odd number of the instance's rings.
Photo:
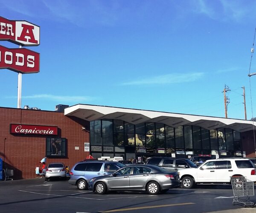
<svg viewBox="0 0 256 213">
<path fill-rule="evenodd" d="M 77 104 L 65 109 L 65 115 L 75 116 L 86 121 L 100 119 L 119 119 L 131 124 L 143 122 L 163 123 L 171 127 L 182 125 L 195 125 L 207 130 L 216 128 L 230 128 L 238 132 L 246 132 L 256 128 L 256 122 L 232 119 L 217 118 L 201 115 L 186 115 L 170 112 L 157 112 L 141 109 L 127 109 L 118 107 L 105 107 L 96 105 Z"/>
</svg>

